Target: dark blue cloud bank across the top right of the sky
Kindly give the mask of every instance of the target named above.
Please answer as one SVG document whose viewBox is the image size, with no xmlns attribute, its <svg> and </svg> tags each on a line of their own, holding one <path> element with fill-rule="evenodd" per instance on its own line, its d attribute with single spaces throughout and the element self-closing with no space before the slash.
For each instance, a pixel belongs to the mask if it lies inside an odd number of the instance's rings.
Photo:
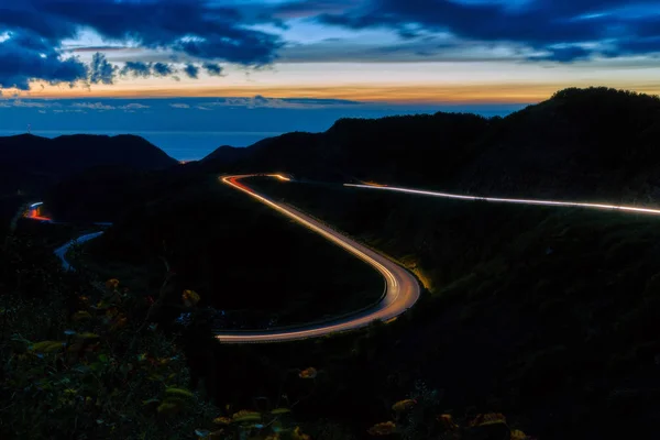
<svg viewBox="0 0 660 440">
<path fill-rule="evenodd" d="M 637 14 L 626 13 L 630 4 L 636 6 Z M 566 61 L 582 54 L 552 47 L 608 40 L 615 47 L 620 43 L 610 54 L 660 51 L 660 44 L 629 44 L 660 36 L 660 15 L 653 11 L 657 1 L 648 0 L 372 0 L 344 13 L 320 14 L 318 21 L 354 30 L 389 28 L 407 37 L 451 32 L 469 40 L 524 43 L 547 50 L 548 59 Z"/>
</svg>

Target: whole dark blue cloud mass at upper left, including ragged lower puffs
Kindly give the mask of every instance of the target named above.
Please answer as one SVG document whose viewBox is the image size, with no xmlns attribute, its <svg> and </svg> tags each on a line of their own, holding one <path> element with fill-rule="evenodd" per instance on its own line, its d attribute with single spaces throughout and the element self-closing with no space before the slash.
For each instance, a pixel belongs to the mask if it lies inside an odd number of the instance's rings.
<svg viewBox="0 0 660 440">
<path fill-rule="evenodd" d="M 265 65 L 275 58 L 282 42 L 249 29 L 255 20 L 208 0 L 0 0 L 0 56 L 7 61 L 0 66 L 0 85 L 26 89 L 32 79 L 62 82 L 88 76 L 91 82 L 109 84 L 114 72 L 105 59 L 95 59 L 89 73 L 76 58 L 62 59 L 62 42 L 75 38 L 82 29 L 113 43 L 212 63 Z M 174 73 L 168 65 L 154 64 L 150 70 Z M 144 72 L 134 65 L 125 74 L 145 76 Z"/>
</svg>

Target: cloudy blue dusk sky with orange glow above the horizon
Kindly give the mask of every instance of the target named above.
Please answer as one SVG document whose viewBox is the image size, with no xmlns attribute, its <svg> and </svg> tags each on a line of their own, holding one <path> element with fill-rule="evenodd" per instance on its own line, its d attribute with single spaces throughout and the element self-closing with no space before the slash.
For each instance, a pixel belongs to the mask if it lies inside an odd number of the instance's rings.
<svg viewBox="0 0 660 440">
<path fill-rule="evenodd" d="M 657 95 L 659 55 L 660 0 L 0 0 L 0 130 L 506 113 L 565 87 Z"/>
</svg>

